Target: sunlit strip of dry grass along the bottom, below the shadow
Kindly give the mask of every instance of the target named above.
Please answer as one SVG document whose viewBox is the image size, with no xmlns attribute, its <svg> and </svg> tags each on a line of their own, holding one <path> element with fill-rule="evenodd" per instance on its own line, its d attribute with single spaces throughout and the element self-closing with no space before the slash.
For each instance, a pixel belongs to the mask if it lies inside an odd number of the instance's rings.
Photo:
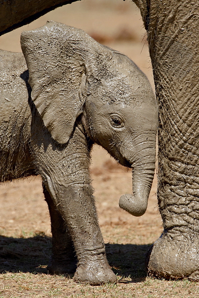
<svg viewBox="0 0 199 298">
<path fill-rule="evenodd" d="M 52 276 L 44 273 L 11 273 L 0 276 L 0 297 L 139 297 L 139 298 L 191 298 L 199 297 L 199 286 L 189 280 L 165 281 L 150 277 L 133 279 L 120 277 L 117 284 L 102 286 L 74 283 L 71 277 Z"/>
</svg>

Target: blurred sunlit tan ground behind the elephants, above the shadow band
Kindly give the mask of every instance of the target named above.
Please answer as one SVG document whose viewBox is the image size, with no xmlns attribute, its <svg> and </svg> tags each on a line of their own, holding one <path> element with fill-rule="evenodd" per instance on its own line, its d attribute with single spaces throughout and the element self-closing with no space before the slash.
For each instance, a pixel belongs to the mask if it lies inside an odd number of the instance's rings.
<svg viewBox="0 0 199 298">
<path fill-rule="evenodd" d="M 154 88 L 146 31 L 139 9 L 131 1 L 82 0 L 67 4 L 1 36 L 0 48 L 21 52 L 21 31 L 43 26 L 47 20 L 83 29 L 100 43 L 126 54 L 147 75 Z M 118 165 L 99 146 L 94 146 L 92 151 L 91 177 L 105 243 L 148 244 L 159 237 L 162 227 L 157 209 L 156 175 L 147 212 L 140 218 L 121 210 L 118 204 L 120 195 L 132 192 L 131 171 Z M 0 199 L 1 235 L 50 235 L 49 213 L 43 201 L 40 178 L 1 186 Z"/>
</svg>

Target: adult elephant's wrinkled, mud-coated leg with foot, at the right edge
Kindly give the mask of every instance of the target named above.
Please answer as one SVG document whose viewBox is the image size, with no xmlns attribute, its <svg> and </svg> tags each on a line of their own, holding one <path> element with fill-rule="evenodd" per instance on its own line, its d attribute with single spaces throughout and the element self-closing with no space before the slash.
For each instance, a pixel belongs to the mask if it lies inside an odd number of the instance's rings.
<svg viewBox="0 0 199 298">
<path fill-rule="evenodd" d="M 164 231 L 148 269 L 199 279 L 199 3 L 136 1 L 147 29 L 159 103 L 158 204 Z"/>
</svg>

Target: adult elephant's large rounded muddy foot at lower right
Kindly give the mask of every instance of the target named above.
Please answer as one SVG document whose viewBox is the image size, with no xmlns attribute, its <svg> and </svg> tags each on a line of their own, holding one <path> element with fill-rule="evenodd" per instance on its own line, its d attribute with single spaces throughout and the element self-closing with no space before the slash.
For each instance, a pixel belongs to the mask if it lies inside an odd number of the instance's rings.
<svg viewBox="0 0 199 298">
<path fill-rule="evenodd" d="M 150 274 L 164 278 L 199 280 L 198 231 L 173 227 L 156 240 L 147 255 Z"/>
</svg>

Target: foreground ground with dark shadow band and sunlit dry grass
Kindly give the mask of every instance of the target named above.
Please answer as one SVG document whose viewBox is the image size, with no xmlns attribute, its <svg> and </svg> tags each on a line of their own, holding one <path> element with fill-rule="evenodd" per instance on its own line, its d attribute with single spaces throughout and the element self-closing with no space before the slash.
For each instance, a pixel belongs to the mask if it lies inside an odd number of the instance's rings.
<svg viewBox="0 0 199 298">
<path fill-rule="evenodd" d="M 45 235 L 29 238 L 0 238 L 0 297 L 199 297 L 198 283 L 166 281 L 147 277 L 145 253 L 149 245 L 106 244 L 106 252 L 117 284 L 102 286 L 74 283 L 72 275 L 47 272 L 51 239 Z"/>
</svg>

